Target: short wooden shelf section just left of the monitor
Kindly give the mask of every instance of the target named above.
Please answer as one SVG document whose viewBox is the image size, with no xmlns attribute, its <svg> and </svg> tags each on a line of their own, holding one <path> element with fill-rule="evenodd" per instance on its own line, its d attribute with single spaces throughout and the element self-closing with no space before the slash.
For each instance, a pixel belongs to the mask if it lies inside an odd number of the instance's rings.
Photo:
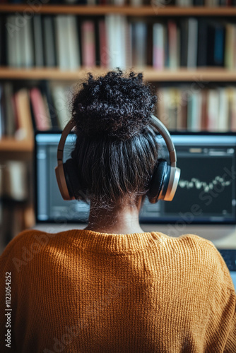
<svg viewBox="0 0 236 353">
<path fill-rule="evenodd" d="M 16 140 L 15 138 L 0 138 L 1 152 L 33 152 L 33 140 Z"/>
</svg>

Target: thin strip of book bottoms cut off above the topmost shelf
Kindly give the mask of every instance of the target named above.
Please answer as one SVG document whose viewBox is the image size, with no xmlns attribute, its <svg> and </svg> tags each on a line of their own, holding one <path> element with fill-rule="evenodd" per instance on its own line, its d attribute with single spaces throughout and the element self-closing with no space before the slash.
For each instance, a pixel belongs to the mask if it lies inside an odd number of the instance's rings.
<svg viewBox="0 0 236 353">
<path fill-rule="evenodd" d="M 26 0 L 0 0 L 0 4 L 25 4 Z M 117 5 L 117 6 L 235 6 L 235 0 L 47 0 L 43 4 Z"/>
</svg>

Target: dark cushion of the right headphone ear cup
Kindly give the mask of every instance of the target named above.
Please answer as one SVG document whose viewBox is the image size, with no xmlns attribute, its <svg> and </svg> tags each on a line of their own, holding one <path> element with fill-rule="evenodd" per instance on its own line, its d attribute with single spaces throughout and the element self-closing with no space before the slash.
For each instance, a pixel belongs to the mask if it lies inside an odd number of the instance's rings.
<svg viewBox="0 0 236 353">
<path fill-rule="evenodd" d="M 149 202 L 156 203 L 158 201 L 158 196 L 160 196 L 160 191 L 163 188 L 164 181 L 167 175 L 167 161 L 158 160 L 158 165 L 155 167 L 153 172 L 153 177 L 151 179 L 151 184 L 147 193 Z"/>
</svg>

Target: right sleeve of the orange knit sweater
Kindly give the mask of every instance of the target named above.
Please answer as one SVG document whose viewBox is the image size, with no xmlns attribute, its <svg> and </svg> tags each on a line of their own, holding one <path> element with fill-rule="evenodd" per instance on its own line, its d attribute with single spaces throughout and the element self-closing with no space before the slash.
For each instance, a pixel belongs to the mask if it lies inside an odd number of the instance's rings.
<svg viewBox="0 0 236 353">
<path fill-rule="evenodd" d="M 236 293 L 230 277 L 230 271 L 216 246 L 212 244 L 213 292 L 210 293 L 208 317 L 208 349 L 206 352 L 236 352 Z M 216 347 L 213 347 L 214 343 Z M 220 347 L 219 347 L 220 345 Z M 222 350 L 219 350 L 222 348 Z"/>
</svg>

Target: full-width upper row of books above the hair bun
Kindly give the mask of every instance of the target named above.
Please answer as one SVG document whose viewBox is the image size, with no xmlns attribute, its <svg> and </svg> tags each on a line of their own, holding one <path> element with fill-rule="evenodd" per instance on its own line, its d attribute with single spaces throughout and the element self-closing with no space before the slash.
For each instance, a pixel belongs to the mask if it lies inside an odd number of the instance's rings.
<svg viewBox="0 0 236 353">
<path fill-rule="evenodd" d="M 0 25 L 2 66 L 236 68 L 235 20 L 35 15 L 24 22 L 18 14 L 1 17 Z"/>
</svg>

